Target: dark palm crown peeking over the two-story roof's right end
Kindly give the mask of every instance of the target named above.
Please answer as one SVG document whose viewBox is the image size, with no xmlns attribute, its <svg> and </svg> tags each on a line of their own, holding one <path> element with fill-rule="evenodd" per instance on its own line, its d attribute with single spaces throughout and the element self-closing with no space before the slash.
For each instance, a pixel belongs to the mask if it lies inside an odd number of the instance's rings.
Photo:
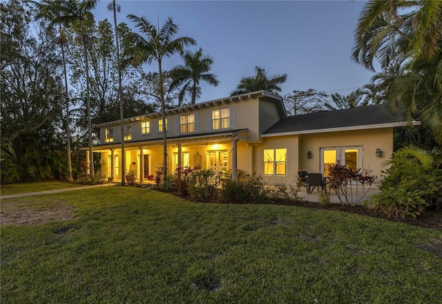
<svg viewBox="0 0 442 304">
<path fill-rule="evenodd" d="M 280 92 L 280 84 L 283 84 L 287 80 L 287 74 L 273 75 L 270 78 L 267 77 L 267 72 L 264 68 L 255 66 L 256 75 L 252 77 L 242 77 L 240 84 L 236 86 L 236 90 L 230 93 L 233 95 L 240 95 L 256 91 L 271 91 Z"/>
</svg>

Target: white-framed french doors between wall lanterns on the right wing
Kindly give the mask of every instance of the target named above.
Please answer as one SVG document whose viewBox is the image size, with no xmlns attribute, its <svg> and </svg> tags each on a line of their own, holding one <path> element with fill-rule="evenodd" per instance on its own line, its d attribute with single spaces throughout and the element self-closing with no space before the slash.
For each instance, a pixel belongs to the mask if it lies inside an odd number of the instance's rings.
<svg viewBox="0 0 442 304">
<path fill-rule="evenodd" d="M 334 146 L 329 148 L 320 148 L 320 171 L 323 176 L 329 175 L 329 165 L 340 164 L 347 168 L 362 168 L 362 146 Z"/>
</svg>

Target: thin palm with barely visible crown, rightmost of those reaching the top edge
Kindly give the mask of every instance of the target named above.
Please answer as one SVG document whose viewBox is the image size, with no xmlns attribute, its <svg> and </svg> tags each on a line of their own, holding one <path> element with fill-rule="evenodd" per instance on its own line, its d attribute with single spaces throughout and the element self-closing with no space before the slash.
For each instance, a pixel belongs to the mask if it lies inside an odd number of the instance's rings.
<svg viewBox="0 0 442 304">
<path fill-rule="evenodd" d="M 124 160 L 124 114 L 123 114 L 123 101 L 122 101 L 122 68 L 121 62 L 119 58 L 119 41 L 118 41 L 118 30 L 117 30 L 117 12 L 121 9 L 121 6 L 115 3 L 115 0 L 112 3 L 109 3 L 108 10 L 113 11 L 113 23 L 115 26 L 115 46 L 117 48 L 117 66 L 118 66 L 118 102 L 119 102 L 119 120 L 121 124 L 121 133 L 122 133 L 122 174 L 125 175 L 126 167 Z M 140 155 L 140 158 L 142 155 Z M 122 186 L 126 184 L 124 180 L 124 176 L 122 176 Z"/>
</svg>

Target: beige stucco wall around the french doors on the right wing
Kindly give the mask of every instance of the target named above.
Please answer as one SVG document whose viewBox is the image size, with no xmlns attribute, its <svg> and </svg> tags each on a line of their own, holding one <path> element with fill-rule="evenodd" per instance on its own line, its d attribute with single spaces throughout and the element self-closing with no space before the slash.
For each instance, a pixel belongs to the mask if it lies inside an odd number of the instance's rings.
<svg viewBox="0 0 442 304">
<path fill-rule="evenodd" d="M 320 148 L 336 146 L 362 146 L 363 168 L 380 176 L 385 161 L 393 153 L 393 128 L 300 135 L 299 169 L 320 172 Z M 376 158 L 377 148 L 383 152 L 382 158 Z M 307 159 L 308 151 L 312 153 L 311 159 Z"/>
</svg>

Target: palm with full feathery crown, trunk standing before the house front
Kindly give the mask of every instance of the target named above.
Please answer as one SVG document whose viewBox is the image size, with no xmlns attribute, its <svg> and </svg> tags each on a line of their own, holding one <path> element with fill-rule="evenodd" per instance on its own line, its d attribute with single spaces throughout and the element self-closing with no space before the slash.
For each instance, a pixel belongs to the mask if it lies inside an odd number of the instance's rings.
<svg viewBox="0 0 442 304">
<path fill-rule="evenodd" d="M 145 17 L 128 15 L 128 19 L 135 23 L 143 37 L 140 34 L 133 33 L 133 46 L 128 49 L 131 53 L 130 62 L 133 66 L 140 66 L 145 62 L 151 64 L 157 61 L 158 64 L 158 91 L 160 92 L 161 114 L 163 124 L 163 169 L 167 174 L 167 133 L 166 133 L 166 105 L 164 103 L 164 75 L 162 73 L 162 60 L 164 57 L 171 57 L 173 54 L 184 53 L 184 47 L 195 45 L 196 42 L 190 37 L 179 37 L 174 39 L 178 31 L 178 26 L 173 23 L 171 17 L 166 23 L 160 26 L 153 26 Z"/>
</svg>

